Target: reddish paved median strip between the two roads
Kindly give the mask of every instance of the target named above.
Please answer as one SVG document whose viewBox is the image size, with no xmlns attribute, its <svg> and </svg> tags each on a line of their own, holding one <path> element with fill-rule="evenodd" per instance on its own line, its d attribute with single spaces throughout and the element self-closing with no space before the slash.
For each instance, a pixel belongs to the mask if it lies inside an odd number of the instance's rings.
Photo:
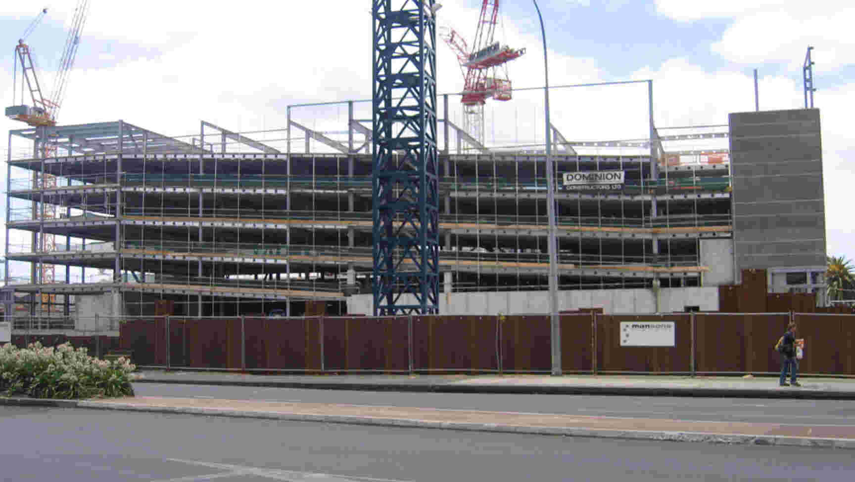
<svg viewBox="0 0 855 482">
<path fill-rule="evenodd" d="M 680 421 L 210 398 L 135 397 L 83 400 L 74 402 L 74 404 L 85 409 L 115 409 L 286 421 L 319 421 L 384 427 L 855 449 L 855 426 Z"/>
</svg>

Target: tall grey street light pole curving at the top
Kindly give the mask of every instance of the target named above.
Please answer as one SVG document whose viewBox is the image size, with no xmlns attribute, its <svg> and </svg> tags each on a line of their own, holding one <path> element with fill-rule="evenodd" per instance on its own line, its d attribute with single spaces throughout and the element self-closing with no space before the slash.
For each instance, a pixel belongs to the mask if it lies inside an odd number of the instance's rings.
<svg viewBox="0 0 855 482">
<path fill-rule="evenodd" d="M 552 125 L 549 121 L 549 61 L 546 58 L 546 31 L 543 27 L 543 15 L 540 15 L 540 7 L 537 0 L 534 9 L 540 19 L 540 34 L 543 36 L 543 70 L 545 85 L 543 88 L 544 109 L 546 116 L 546 215 L 549 218 L 549 235 L 546 238 L 546 247 L 549 252 L 549 317 L 550 317 L 550 340 L 552 353 L 553 376 L 561 375 L 561 324 L 558 319 L 558 246 L 555 237 L 555 179 L 552 167 Z"/>
</svg>

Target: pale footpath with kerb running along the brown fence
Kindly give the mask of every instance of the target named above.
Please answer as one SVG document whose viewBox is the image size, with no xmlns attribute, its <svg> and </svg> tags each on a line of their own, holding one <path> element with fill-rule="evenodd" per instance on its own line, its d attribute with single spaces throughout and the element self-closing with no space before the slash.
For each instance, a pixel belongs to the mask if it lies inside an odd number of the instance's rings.
<svg viewBox="0 0 855 482">
<path fill-rule="evenodd" d="M 324 390 L 456 393 L 552 393 L 652 397 L 802 398 L 855 400 L 855 378 L 800 378 L 801 387 L 778 386 L 777 377 L 666 375 L 244 375 L 144 371 L 135 383 L 268 386 Z"/>
</svg>

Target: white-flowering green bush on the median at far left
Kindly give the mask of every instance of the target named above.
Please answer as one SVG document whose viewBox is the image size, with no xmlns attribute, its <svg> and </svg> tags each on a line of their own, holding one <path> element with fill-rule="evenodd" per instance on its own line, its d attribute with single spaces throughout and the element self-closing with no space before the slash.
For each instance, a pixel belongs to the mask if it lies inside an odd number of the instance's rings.
<svg viewBox="0 0 855 482">
<path fill-rule="evenodd" d="M 126 358 L 107 361 L 86 355 L 68 343 L 45 347 L 31 343 L 0 346 L 0 393 L 32 398 L 103 398 L 133 396 Z"/>
</svg>

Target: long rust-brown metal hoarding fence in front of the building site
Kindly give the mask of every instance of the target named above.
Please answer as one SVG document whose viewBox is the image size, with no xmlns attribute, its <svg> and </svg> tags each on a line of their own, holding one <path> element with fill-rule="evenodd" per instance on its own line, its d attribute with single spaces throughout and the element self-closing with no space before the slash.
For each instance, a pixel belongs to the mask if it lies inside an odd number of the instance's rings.
<svg viewBox="0 0 855 482">
<path fill-rule="evenodd" d="M 774 298 L 764 299 L 774 305 Z M 785 313 L 561 315 L 566 373 L 774 373 Z M 795 314 L 805 338 L 805 374 L 855 375 L 855 315 Z M 694 321 L 693 321 L 694 320 Z M 675 322 L 675 346 L 621 346 L 621 322 Z M 71 340 L 93 354 L 133 351 L 144 367 L 298 372 L 544 373 L 550 322 L 516 316 L 150 316 L 120 324 L 121 337 L 14 335 L 23 345 Z"/>
</svg>

